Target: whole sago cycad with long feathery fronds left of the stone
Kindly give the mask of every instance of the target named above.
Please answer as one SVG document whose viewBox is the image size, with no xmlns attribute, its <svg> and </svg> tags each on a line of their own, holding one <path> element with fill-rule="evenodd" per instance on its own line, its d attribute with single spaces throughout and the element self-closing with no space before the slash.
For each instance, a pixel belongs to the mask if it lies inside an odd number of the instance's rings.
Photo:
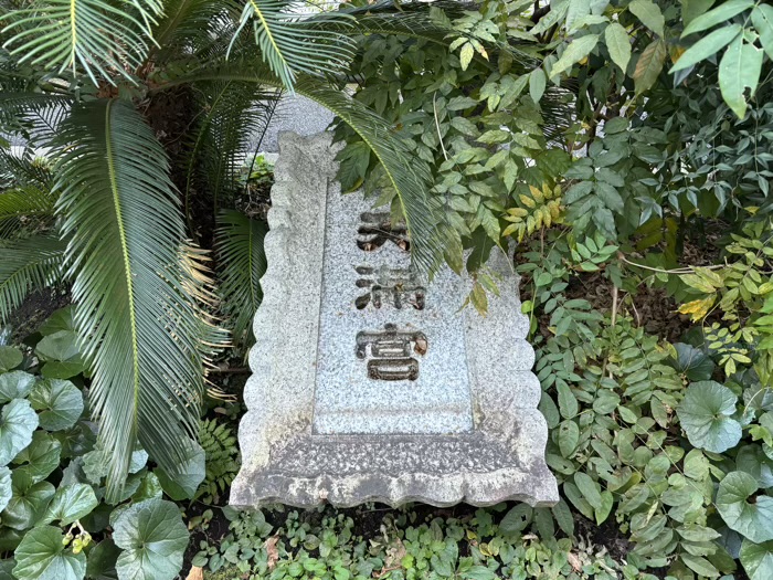
<svg viewBox="0 0 773 580">
<path fill-rule="evenodd" d="M 0 319 L 72 285 L 108 494 L 139 443 L 170 473 L 195 437 L 221 341 L 207 251 L 235 338 L 260 304 L 265 228 L 232 209 L 248 137 L 280 92 L 348 124 L 380 161 L 425 271 L 442 243 L 431 175 L 346 93 L 370 33 L 444 42 L 422 4 L 308 11 L 287 0 L 0 0 Z M 23 151 L 9 141 L 22 137 Z M 19 141 L 15 141 L 19 143 Z M 44 160 L 39 158 L 44 155 Z"/>
</svg>

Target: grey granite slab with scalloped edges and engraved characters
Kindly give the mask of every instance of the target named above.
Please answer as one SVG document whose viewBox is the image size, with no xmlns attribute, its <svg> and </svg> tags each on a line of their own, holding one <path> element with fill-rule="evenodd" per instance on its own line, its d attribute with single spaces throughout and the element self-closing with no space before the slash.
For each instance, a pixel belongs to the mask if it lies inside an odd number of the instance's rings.
<svg viewBox="0 0 773 580">
<path fill-rule="evenodd" d="M 507 260 L 488 315 L 460 310 L 469 281 L 420 280 L 405 229 L 341 194 L 336 150 L 279 136 L 231 504 L 554 504 Z"/>
</svg>

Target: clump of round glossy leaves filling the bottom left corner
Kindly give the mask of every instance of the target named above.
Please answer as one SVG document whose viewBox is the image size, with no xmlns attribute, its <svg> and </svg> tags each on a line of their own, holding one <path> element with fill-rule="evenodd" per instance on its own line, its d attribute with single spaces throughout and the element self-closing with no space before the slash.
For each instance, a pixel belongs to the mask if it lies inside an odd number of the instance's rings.
<svg viewBox="0 0 773 580">
<path fill-rule="evenodd" d="M 72 308 L 41 333 L 32 355 L 0 346 L 0 551 L 13 553 L 0 571 L 19 580 L 172 580 L 189 536 L 163 492 L 180 481 L 135 446 L 121 494 L 107 498 L 108 462 L 88 419 Z"/>
</svg>

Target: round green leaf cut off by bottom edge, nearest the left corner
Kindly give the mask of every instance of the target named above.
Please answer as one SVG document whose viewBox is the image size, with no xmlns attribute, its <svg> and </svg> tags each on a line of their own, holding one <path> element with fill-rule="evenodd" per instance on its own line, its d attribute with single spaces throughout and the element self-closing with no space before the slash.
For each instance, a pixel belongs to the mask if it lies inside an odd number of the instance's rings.
<svg viewBox="0 0 773 580">
<path fill-rule="evenodd" d="M 28 531 L 14 552 L 13 576 L 35 580 L 82 580 L 86 574 L 86 556 L 73 553 L 62 542 L 59 528 L 41 526 Z"/>
</svg>

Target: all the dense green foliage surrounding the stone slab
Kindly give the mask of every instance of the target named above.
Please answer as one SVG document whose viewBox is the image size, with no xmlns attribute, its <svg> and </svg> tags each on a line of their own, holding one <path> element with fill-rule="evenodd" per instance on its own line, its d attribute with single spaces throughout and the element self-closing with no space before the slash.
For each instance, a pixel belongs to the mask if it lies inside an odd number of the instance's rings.
<svg viewBox="0 0 773 580">
<path fill-rule="evenodd" d="M 0 574 L 171 580 L 188 546 L 223 579 L 773 578 L 773 7 L 352 4 L 2 4 L 28 146 L 0 148 L 0 317 L 50 285 L 75 306 L 0 347 Z M 216 507 L 265 268 L 271 171 L 242 157 L 277 87 L 339 115 L 345 188 L 481 315 L 512 253 L 555 508 Z"/>
</svg>

